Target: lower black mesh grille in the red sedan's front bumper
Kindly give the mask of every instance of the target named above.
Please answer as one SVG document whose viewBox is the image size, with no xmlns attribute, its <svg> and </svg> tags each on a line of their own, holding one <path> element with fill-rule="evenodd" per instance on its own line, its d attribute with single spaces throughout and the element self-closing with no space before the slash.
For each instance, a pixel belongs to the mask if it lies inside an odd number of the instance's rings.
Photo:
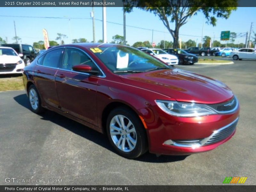
<svg viewBox="0 0 256 192">
<path fill-rule="evenodd" d="M 210 139 L 204 145 L 214 144 L 228 138 L 235 131 L 237 122 L 238 119 L 230 124 L 228 127 L 217 130 L 217 132 L 215 134 L 213 133 L 212 137 L 210 137 Z"/>
</svg>

